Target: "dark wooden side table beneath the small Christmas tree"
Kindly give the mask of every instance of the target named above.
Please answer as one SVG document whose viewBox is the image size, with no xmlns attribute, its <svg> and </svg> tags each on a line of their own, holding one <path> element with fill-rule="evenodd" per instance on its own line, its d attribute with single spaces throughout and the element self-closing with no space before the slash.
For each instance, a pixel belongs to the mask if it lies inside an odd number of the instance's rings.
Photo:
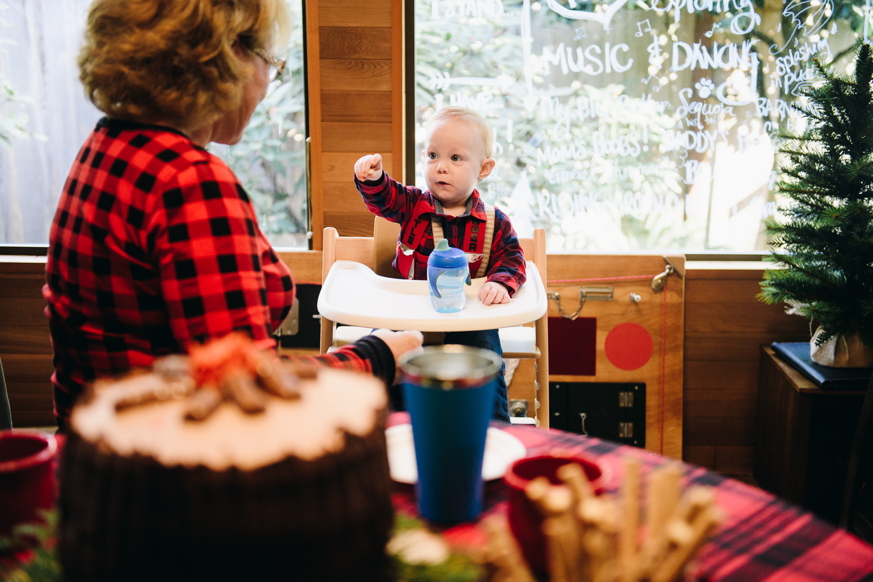
<svg viewBox="0 0 873 582">
<path fill-rule="evenodd" d="M 821 390 L 761 347 L 753 475 L 761 489 L 836 524 L 863 390 Z"/>
</svg>

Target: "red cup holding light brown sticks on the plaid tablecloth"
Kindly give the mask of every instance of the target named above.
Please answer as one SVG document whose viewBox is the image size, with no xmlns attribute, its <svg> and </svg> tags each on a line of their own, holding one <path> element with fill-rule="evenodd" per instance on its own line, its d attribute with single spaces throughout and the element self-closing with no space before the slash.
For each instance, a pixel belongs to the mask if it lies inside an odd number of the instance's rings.
<svg viewBox="0 0 873 582">
<path fill-rule="evenodd" d="M 553 485 L 563 482 L 558 478 L 558 469 L 574 462 L 585 471 L 595 494 L 601 494 L 608 481 L 604 469 L 588 457 L 560 451 L 551 455 L 530 456 L 519 459 L 506 469 L 503 480 L 509 487 L 509 526 L 521 547 L 527 565 L 534 572 L 548 573 L 546 565 L 546 540 L 542 533 L 543 518 L 540 511 L 525 495 L 525 488 L 533 479 L 543 476 Z"/>
</svg>

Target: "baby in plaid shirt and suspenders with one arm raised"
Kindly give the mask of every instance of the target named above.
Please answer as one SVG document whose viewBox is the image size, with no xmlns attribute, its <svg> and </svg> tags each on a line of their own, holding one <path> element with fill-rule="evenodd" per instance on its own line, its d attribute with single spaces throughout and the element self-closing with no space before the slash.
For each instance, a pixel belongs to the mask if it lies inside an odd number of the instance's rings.
<svg viewBox="0 0 873 582">
<path fill-rule="evenodd" d="M 478 298 L 485 305 L 507 303 L 526 279 L 519 237 L 499 209 L 482 202 L 476 185 L 496 163 L 491 127 L 466 107 L 434 113 L 424 140 L 427 191 L 403 186 L 382 170 L 382 155 L 354 163 L 354 184 L 370 212 L 401 226 L 394 267 L 403 277 L 427 279 L 435 238 L 464 250 L 471 277 L 488 277 Z M 447 332 L 446 344 L 483 347 L 500 355 L 498 331 Z M 493 418 L 509 421 L 503 370 L 498 377 Z"/>
</svg>

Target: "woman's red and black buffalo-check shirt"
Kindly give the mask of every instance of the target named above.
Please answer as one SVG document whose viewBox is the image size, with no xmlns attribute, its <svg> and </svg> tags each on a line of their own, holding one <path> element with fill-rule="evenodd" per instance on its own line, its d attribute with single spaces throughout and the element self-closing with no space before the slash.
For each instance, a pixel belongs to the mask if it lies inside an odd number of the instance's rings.
<svg viewBox="0 0 873 582">
<path fill-rule="evenodd" d="M 103 119 L 72 164 L 52 223 L 43 295 L 55 415 L 83 385 L 241 330 L 259 346 L 294 297 L 223 161 L 167 127 Z M 321 364 L 371 371 L 353 348 Z"/>
</svg>

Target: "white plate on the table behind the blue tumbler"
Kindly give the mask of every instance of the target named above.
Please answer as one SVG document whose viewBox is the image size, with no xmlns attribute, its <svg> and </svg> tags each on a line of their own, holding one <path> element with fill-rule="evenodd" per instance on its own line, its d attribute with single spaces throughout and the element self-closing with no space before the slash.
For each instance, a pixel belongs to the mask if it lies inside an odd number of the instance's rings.
<svg viewBox="0 0 873 582">
<path fill-rule="evenodd" d="M 416 483 L 416 448 L 412 442 L 412 425 L 398 424 L 385 430 L 388 442 L 388 466 L 391 479 L 398 483 Z M 482 462 L 482 478 L 485 481 L 499 479 L 512 462 L 527 455 L 525 445 L 519 439 L 499 428 L 488 428 L 485 436 L 485 460 Z"/>
</svg>

